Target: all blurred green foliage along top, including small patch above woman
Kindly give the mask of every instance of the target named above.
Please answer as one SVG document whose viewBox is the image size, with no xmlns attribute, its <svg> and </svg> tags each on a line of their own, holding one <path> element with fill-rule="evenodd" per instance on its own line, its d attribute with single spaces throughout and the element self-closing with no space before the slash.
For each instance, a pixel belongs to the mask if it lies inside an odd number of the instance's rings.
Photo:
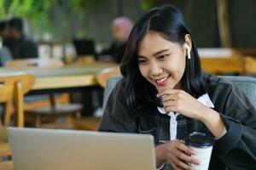
<svg viewBox="0 0 256 170">
<path fill-rule="evenodd" d="M 0 0 L 0 19 L 17 16 L 29 24 L 32 36 L 45 34 L 55 40 L 86 37 L 87 13 L 103 0 Z M 156 0 L 141 0 L 143 11 L 154 7 Z"/>
</svg>

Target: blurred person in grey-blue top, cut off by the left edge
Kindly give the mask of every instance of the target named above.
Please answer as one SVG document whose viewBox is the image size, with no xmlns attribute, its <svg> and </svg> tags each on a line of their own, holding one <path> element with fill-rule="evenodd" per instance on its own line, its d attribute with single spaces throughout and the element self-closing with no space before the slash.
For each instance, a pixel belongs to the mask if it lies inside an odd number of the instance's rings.
<svg viewBox="0 0 256 170">
<path fill-rule="evenodd" d="M 9 37 L 9 26 L 6 20 L 0 21 L 0 66 L 10 59 L 13 59 L 9 48 L 3 45 L 3 42 Z"/>
</svg>

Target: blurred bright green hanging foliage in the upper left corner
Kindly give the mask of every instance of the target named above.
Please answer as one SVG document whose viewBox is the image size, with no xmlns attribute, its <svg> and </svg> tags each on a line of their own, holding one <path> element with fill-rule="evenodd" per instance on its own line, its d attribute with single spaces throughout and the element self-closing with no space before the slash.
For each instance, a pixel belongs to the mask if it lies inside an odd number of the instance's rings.
<svg viewBox="0 0 256 170">
<path fill-rule="evenodd" d="M 20 17 L 29 23 L 30 31 L 38 38 L 43 37 L 45 32 L 52 35 L 53 38 L 61 38 L 62 34 L 67 35 L 70 30 L 69 21 L 73 20 L 71 17 L 78 14 L 81 20 L 85 18 L 85 9 L 81 4 L 89 5 L 84 0 L 0 0 L 0 19 L 9 19 L 11 17 Z M 90 1 L 89 1 L 90 2 Z M 84 5 L 84 6 L 85 6 Z M 49 13 L 55 8 L 64 6 L 68 8 L 67 14 L 62 17 L 61 24 L 55 26 L 54 17 Z M 62 32 L 61 32 L 61 31 Z M 66 32 L 65 32 L 66 31 Z M 85 32 L 85 31 L 84 31 Z M 79 36 L 82 33 L 79 32 Z"/>
</svg>

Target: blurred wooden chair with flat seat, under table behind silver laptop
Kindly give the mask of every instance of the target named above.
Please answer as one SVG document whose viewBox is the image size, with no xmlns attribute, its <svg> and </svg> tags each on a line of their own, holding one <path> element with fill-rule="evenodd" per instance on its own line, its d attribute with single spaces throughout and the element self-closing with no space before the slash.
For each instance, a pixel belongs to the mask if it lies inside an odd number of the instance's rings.
<svg viewBox="0 0 256 170">
<path fill-rule="evenodd" d="M 61 96 L 61 97 L 60 97 Z M 49 94 L 48 99 L 35 102 L 28 102 L 25 105 L 26 120 L 33 122 L 35 127 L 47 128 L 73 128 L 70 124 L 71 117 L 79 118 L 83 109 L 81 104 L 70 104 L 69 94 Z M 57 122 L 60 118 L 65 118 L 62 122 Z"/>
</svg>

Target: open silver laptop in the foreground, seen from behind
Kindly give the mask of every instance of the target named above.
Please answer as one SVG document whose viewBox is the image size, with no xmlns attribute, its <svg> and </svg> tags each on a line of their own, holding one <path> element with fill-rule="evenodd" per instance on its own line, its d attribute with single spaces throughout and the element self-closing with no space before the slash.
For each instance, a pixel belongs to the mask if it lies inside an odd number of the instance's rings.
<svg viewBox="0 0 256 170">
<path fill-rule="evenodd" d="M 150 135 L 9 127 L 15 170 L 153 170 Z"/>
</svg>

